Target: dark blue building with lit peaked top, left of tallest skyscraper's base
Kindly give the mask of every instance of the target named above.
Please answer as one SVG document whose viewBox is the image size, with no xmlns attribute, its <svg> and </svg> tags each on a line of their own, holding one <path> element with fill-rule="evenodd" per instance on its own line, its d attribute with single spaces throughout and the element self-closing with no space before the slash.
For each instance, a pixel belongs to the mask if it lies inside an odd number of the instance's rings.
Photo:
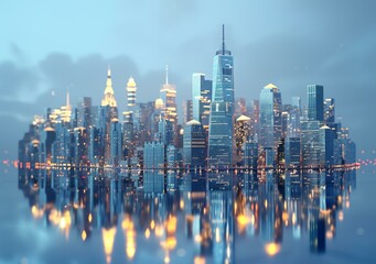
<svg viewBox="0 0 376 264">
<path fill-rule="evenodd" d="M 191 168 L 206 165 L 205 132 L 196 120 L 191 120 L 184 128 L 183 162 L 184 166 Z"/>
</svg>

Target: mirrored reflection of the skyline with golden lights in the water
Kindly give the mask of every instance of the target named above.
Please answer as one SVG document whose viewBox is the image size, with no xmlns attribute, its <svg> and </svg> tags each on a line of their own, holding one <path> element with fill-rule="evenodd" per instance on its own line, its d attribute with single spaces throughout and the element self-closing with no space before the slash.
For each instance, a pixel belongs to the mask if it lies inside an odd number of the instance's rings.
<svg viewBox="0 0 376 264">
<path fill-rule="evenodd" d="M 160 188 L 151 187 L 154 176 L 161 175 L 148 172 L 149 187 Z M 77 234 L 84 243 L 100 234 L 103 262 L 114 255 L 137 261 L 140 249 L 157 246 L 150 254 L 158 262 L 233 263 L 235 245 L 251 238 L 262 242 L 266 255 L 278 254 L 283 233 L 308 238 L 310 252 L 324 253 L 356 188 L 355 170 L 227 173 L 223 177 L 236 178 L 229 190 L 207 190 L 205 172 L 169 170 L 166 177 L 170 188 L 155 195 L 122 172 L 20 169 L 19 189 L 33 218 L 66 240 Z M 122 252 L 115 250 L 118 241 Z"/>
</svg>

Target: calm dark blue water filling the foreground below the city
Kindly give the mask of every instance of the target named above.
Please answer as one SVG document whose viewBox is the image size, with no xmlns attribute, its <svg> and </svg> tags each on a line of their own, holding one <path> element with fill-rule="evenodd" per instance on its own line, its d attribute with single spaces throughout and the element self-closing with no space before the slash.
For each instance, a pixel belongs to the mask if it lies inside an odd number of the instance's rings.
<svg viewBox="0 0 376 264">
<path fill-rule="evenodd" d="M 0 263 L 376 263 L 372 173 L 234 177 L 149 195 L 111 172 L 4 170 Z"/>
</svg>

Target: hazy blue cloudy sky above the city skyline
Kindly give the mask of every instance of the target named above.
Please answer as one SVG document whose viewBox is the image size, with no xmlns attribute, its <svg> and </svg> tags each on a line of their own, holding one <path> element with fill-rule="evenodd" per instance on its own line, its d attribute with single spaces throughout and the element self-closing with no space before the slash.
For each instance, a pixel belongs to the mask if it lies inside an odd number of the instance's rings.
<svg viewBox="0 0 376 264">
<path fill-rule="evenodd" d="M 259 98 L 272 82 L 283 103 L 307 85 L 324 86 L 358 151 L 372 153 L 376 98 L 376 1 L 342 0 L 36 0 L 0 2 L 0 157 L 17 158 L 18 140 L 47 107 L 92 97 L 99 105 L 107 67 L 120 108 L 126 84 L 138 101 L 176 85 L 191 98 L 193 73 L 212 78 L 222 24 L 234 56 L 235 96 Z"/>
</svg>

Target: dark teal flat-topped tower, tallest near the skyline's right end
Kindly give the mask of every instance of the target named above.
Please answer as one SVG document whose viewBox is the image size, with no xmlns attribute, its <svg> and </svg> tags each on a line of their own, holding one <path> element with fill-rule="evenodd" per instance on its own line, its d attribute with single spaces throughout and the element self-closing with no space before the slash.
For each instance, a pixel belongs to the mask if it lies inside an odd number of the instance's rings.
<svg viewBox="0 0 376 264">
<path fill-rule="evenodd" d="M 307 86 L 308 120 L 324 121 L 324 87 L 320 85 Z"/>
</svg>

